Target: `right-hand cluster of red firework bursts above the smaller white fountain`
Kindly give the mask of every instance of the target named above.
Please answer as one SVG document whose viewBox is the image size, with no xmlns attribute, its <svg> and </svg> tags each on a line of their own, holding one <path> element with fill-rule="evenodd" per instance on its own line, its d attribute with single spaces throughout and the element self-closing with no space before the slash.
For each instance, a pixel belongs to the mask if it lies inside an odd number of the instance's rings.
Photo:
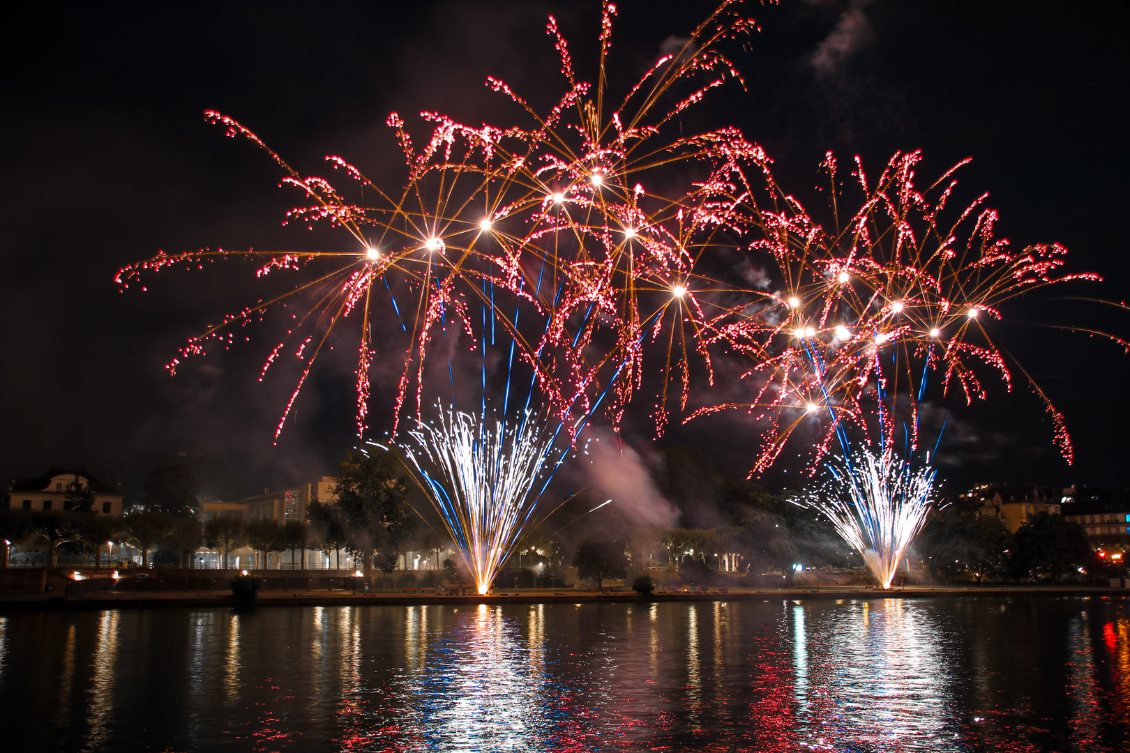
<svg viewBox="0 0 1130 753">
<path fill-rule="evenodd" d="M 829 154 L 826 224 L 762 164 L 731 159 L 719 167 L 715 180 L 724 174 L 740 187 L 732 200 L 749 230 L 745 247 L 759 255 L 781 290 L 770 304 L 706 327 L 710 342 L 725 342 L 751 361 L 744 376 L 754 377 L 753 399 L 704 405 L 689 418 L 740 408 L 764 419 L 755 473 L 773 463 L 805 422 L 823 422 L 823 435 L 812 443 L 814 470 L 834 439 L 846 447 L 846 427 L 868 432 L 871 415 L 880 446 L 889 452 L 897 409 L 910 417 L 905 444 L 914 452 L 920 403 L 931 377 L 944 395 L 957 389 L 972 402 L 985 397 L 986 373 L 1011 386 L 1014 368 L 1044 401 L 1055 441 L 1071 462 L 1062 415 L 1019 364 L 1006 361 L 992 339 L 992 323 L 1020 295 L 1099 278 L 1062 273 L 1067 249 L 1058 244 L 1014 249 L 997 237 L 997 212 L 984 205 L 988 194 L 950 210 L 954 174 L 968 160 L 923 190 L 914 180 L 921 159 L 920 152 L 896 154 L 870 183 L 857 158 L 853 183 L 860 202 L 847 213 L 851 186 L 837 180 Z"/>
</svg>

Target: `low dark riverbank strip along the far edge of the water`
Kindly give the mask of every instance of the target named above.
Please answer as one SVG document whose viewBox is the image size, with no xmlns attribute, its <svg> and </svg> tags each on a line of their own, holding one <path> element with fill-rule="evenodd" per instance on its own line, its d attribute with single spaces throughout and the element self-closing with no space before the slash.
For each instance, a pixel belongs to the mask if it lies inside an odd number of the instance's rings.
<svg viewBox="0 0 1130 753">
<path fill-rule="evenodd" d="M 643 597 L 631 590 L 599 593 L 592 590 L 511 590 L 485 596 L 443 596 L 436 594 L 373 593 L 353 594 L 349 590 L 301 590 L 260 593 L 255 606 L 419 606 L 432 604 L 602 604 L 616 602 L 770 602 L 780 599 L 843 601 L 880 598 L 939 598 L 939 597 L 1130 597 L 1130 589 L 1103 586 L 971 586 L 928 587 L 911 586 L 880 590 L 877 588 L 772 588 L 734 589 L 728 593 L 659 593 Z M 24 611 L 59 610 L 124 610 L 160 607 L 229 607 L 231 594 L 207 592 L 164 593 L 99 593 L 88 596 L 59 596 L 53 594 L 12 595 L 0 597 L 0 614 Z"/>
</svg>

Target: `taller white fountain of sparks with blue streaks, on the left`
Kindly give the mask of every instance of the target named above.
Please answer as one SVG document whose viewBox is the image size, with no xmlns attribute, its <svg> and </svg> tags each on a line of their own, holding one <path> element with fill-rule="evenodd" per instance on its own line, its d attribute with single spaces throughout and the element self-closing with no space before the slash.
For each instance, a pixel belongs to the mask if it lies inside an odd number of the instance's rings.
<svg viewBox="0 0 1130 753">
<path fill-rule="evenodd" d="M 530 411 L 516 427 L 493 424 L 440 409 L 438 423 L 417 420 L 408 431 L 412 444 L 403 446 L 479 594 L 490 588 L 533 513 L 534 487 L 557 436 Z"/>
</svg>

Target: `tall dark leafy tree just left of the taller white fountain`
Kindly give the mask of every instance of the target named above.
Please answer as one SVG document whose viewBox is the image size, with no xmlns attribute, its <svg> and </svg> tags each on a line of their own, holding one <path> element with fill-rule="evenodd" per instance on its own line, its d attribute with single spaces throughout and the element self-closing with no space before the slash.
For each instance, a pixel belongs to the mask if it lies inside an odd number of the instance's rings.
<svg viewBox="0 0 1130 753">
<path fill-rule="evenodd" d="M 373 449 L 350 450 L 338 464 L 337 478 L 334 507 L 349 550 L 362 559 L 367 578 L 373 555 L 399 553 L 416 526 L 408 504 L 408 474 L 393 452 Z"/>
</svg>

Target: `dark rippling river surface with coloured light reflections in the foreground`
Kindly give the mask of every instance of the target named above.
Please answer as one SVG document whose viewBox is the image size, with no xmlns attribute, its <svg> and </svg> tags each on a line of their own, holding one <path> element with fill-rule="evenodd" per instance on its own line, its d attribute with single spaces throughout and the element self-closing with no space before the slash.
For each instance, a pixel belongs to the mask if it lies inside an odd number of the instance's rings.
<svg viewBox="0 0 1130 753">
<path fill-rule="evenodd" d="M 0 616 L 7 750 L 1127 751 L 1105 598 Z"/>
</svg>

